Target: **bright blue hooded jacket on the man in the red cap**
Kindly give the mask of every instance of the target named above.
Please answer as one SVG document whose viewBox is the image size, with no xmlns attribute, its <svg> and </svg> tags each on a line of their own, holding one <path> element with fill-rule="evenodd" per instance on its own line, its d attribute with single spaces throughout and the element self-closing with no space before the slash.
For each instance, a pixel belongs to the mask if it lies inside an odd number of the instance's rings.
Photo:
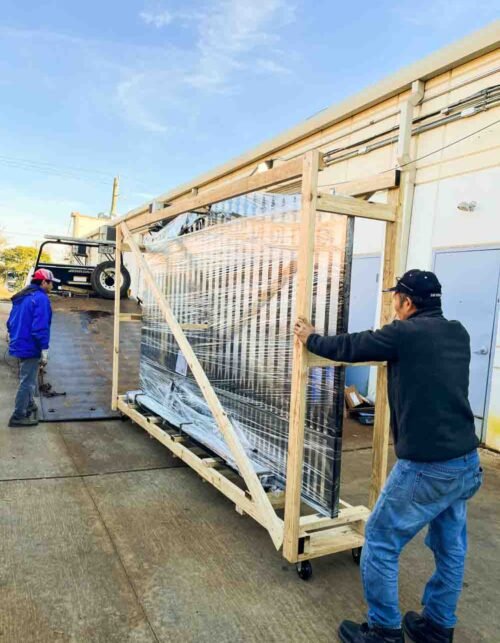
<svg viewBox="0 0 500 643">
<path fill-rule="evenodd" d="M 12 310 L 7 320 L 9 353 L 26 359 L 40 357 L 49 347 L 52 308 L 47 293 L 31 284 L 12 297 Z"/>
</svg>

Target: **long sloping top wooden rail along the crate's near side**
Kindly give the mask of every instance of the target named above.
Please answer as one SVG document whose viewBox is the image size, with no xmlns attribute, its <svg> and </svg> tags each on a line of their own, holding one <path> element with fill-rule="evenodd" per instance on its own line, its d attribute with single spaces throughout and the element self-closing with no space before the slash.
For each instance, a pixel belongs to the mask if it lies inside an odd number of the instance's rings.
<svg viewBox="0 0 500 643">
<path fill-rule="evenodd" d="M 299 157 L 266 172 L 245 176 L 230 183 L 223 183 L 210 190 L 201 191 L 195 196 L 184 197 L 166 208 L 160 208 L 154 212 L 125 215 L 113 222 L 113 225 L 119 225 L 126 221 L 131 231 L 140 230 L 158 221 L 167 221 L 184 212 L 191 212 L 218 201 L 248 194 L 255 190 L 264 190 L 272 185 L 298 178 L 301 174 L 302 157 Z"/>
</svg>

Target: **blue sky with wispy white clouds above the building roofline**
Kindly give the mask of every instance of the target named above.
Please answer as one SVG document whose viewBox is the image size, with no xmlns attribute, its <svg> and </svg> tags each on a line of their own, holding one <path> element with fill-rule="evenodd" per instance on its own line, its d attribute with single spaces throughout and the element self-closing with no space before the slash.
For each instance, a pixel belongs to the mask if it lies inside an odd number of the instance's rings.
<svg viewBox="0 0 500 643">
<path fill-rule="evenodd" d="M 0 233 L 151 200 L 498 18 L 498 0 L 2 0 Z"/>
</svg>

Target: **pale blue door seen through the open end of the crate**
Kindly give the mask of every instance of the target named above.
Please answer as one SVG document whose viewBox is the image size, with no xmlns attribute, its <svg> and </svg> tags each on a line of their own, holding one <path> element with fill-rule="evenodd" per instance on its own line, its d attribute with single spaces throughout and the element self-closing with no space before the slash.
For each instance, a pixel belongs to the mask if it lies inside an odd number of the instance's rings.
<svg viewBox="0 0 500 643">
<path fill-rule="evenodd" d="M 377 310 L 380 256 L 353 257 L 351 298 L 349 302 L 349 332 L 373 330 Z M 346 369 L 346 386 L 354 384 L 362 395 L 368 393 L 369 366 Z"/>
</svg>

